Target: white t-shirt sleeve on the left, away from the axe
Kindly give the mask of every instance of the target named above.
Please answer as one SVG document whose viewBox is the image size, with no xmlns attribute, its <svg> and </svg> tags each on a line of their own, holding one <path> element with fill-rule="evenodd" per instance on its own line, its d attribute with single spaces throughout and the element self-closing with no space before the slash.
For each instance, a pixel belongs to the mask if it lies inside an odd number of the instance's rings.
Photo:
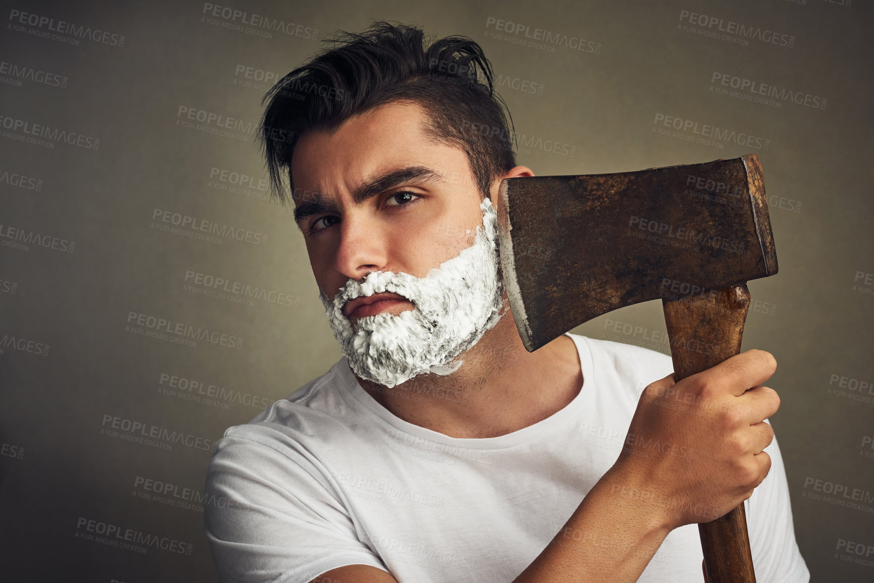
<svg viewBox="0 0 874 583">
<path fill-rule="evenodd" d="M 387 571 L 303 448 L 231 431 L 205 486 L 206 538 L 222 581 L 309 583 L 347 565 Z"/>
</svg>

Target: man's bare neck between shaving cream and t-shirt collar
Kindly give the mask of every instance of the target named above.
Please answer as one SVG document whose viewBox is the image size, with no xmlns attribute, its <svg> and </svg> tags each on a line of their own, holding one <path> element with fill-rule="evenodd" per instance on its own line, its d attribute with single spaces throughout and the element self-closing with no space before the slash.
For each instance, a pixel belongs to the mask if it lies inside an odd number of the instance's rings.
<svg viewBox="0 0 874 583">
<path fill-rule="evenodd" d="M 496 437 L 545 420 L 570 403 L 583 382 L 570 337 L 525 350 L 506 295 L 501 319 L 459 358 L 463 364 L 450 375 L 420 375 L 392 388 L 356 378 L 400 419 L 465 438 Z"/>
</svg>

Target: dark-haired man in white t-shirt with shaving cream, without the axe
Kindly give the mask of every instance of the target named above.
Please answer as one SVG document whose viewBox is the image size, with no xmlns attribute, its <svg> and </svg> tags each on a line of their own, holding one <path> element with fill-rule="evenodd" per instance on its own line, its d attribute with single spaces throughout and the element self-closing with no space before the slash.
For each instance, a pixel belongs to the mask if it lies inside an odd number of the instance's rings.
<svg viewBox="0 0 874 583">
<path fill-rule="evenodd" d="M 770 354 L 675 384 L 651 350 L 524 350 L 495 205 L 532 173 L 478 45 L 378 23 L 267 99 L 274 189 L 287 169 L 344 357 L 219 441 L 222 580 L 700 581 L 695 523 L 745 500 L 759 580 L 808 580 Z"/>
</svg>

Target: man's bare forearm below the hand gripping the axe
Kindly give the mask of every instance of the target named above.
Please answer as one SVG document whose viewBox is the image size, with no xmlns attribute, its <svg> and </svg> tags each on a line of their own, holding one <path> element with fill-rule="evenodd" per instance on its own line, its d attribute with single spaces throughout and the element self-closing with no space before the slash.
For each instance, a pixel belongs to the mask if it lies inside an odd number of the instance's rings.
<svg viewBox="0 0 874 583">
<path fill-rule="evenodd" d="M 513 583 L 636 581 L 670 531 L 654 506 L 617 492 L 634 484 L 611 468 Z"/>
</svg>

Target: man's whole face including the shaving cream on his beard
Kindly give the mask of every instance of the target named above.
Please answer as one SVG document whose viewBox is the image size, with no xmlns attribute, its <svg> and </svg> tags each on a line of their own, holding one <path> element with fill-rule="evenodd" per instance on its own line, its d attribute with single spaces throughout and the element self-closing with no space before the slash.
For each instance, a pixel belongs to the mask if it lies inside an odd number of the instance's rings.
<svg viewBox="0 0 874 583">
<path fill-rule="evenodd" d="M 358 376 L 386 386 L 456 371 L 502 314 L 496 210 L 425 121 L 418 105 L 385 105 L 303 135 L 292 158 L 331 328 Z"/>
</svg>

